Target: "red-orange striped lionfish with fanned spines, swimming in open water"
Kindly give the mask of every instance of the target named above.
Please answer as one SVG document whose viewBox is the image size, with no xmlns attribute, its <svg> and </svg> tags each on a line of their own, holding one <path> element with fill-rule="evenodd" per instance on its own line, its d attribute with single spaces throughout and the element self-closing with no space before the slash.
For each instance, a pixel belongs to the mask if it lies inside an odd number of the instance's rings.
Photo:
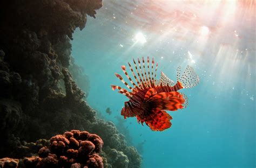
<svg viewBox="0 0 256 168">
<path fill-rule="evenodd" d="M 130 78 L 126 72 L 126 67 L 121 66 L 124 74 L 131 82 L 129 86 L 124 81 L 123 77 L 117 73 L 115 75 L 119 78 L 130 90 L 121 88 L 119 86 L 111 85 L 112 90 L 118 89 L 119 93 L 127 96 L 130 100 L 124 103 L 121 115 L 126 117 L 137 117 L 138 123 L 146 123 L 153 131 L 163 131 L 171 127 L 172 116 L 166 113 L 165 110 L 176 111 L 187 106 L 187 96 L 177 92 L 182 88 L 191 88 L 199 83 L 199 77 L 194 72 L 191 66 L 187 66 L 184 73 L 180 74 L 180 67 L 177 68 L 177 83 L 175 84 L 171 79 L 161 72 L 160 79 L 156 79 L 157 67 L 154 67 L 154 58 L 150 69 L 150 59 L 147 57 L 147 71 L 145 68 L 145 60 L 142 57 L 142 64 L 138 58 L 138 66 L 133 59 L 137 75 L 134 73 L 131 64 L 128 62 L 132 75 L 136 81 Z M 143 65 L 143 69 L 142 69 Z"/>
</svg>

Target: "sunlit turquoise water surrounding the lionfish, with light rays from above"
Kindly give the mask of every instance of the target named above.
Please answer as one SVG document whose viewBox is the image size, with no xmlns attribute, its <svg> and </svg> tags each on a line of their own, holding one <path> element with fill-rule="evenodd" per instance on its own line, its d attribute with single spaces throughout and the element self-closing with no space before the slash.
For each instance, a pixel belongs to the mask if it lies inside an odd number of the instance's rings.
<svg viewBox="0 0 256 168">
<path fill-rule="evenodd" d="M 250 2 L 104 1 L 96 19 L 88 18 L 85 29 L 75 32 L 72 55 L 89 76 L 87 102 L 106 120 L 117 123 L 116 116 L 122 117 L 127 98 L 110 85 L 124 87 L 114 73 L 123 75 L 120 66 L 133 58 L 154 57 L 158 78 L 163 71 L 176 81 L 176 68 L 186 65 L 199 75 L 198 86 L 180 90 L 188 106 L 169 111 L 170 129 L 156 132 L 134 117 L 124 120 L 128 143 L 144 142 L 143 167 L 256 166 Z"/>
</svg>

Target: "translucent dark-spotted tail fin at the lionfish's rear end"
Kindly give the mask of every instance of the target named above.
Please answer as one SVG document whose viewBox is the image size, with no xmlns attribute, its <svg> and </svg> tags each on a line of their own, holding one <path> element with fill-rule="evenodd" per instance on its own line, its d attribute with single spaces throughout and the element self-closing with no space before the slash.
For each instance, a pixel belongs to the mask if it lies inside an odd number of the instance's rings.
<svg viewBox="0 0 256 168">
<path fill-rule="evenodd" d="M 191 66 L 187 66 L 183 74 L 180 74 L 180 66 L 177 68 L 177 80 L 181 82 L 183 88 L 192 88 L 199 83 L 199 76 Z"/>
</svg>

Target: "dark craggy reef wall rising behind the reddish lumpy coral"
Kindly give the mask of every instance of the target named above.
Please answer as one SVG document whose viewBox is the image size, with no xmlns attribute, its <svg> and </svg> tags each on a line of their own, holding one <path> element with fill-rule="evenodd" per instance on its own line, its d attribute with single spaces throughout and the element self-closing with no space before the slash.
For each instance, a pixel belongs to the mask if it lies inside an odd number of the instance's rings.
<svg viewBox="0 0 256 168">
<path fill-rule="evenodd" d="M 105 167 L 140 166 L 137 150 L 96 117 L 72 79 L 83 82 L 70 56 L 72 33 L 101 7 L 101 0 L 0 1 L 0 158 L 15 158 L 22 141 L 78 129 L 102 137 Z"/>
</svg>

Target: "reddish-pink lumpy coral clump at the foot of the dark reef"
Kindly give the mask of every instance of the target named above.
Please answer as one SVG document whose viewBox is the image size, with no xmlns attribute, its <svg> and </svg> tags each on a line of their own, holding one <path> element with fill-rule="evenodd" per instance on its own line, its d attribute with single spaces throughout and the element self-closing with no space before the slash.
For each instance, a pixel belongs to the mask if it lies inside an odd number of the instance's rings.
<svg viewBox="0 0 256 168">
<path fill-rule="evenodd" d="M 103 141 L 96 134 L 72 130 L 50 139 L 50 146 L 44 146 L 38 156 L 26 157 L 25 167 L 103 167 L 98 155 Z"/>
</svg>

